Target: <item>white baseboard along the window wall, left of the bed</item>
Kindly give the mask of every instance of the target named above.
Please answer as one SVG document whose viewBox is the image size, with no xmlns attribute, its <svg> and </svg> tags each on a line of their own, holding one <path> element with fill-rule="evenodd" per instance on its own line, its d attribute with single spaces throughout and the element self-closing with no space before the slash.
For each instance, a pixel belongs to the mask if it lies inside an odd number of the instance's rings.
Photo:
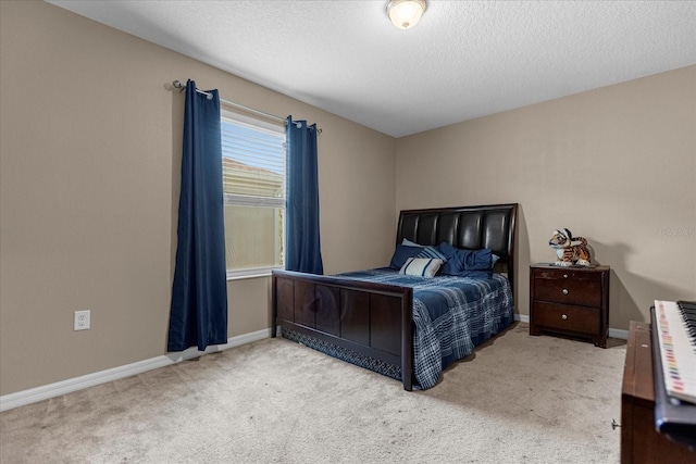
<svg viewBox="0 0 696 464">
<path fill-rule="evenodd" d="M 203 354 L 215 353 L 217 351 L 223 351 L 229 348 L 239 347 L 241 344 L 251 343 L 252 341 L 262 340 L 264 338 L 269 338 L 270 336 L 270 328 L 262 329 L 251 334 L 232 337 L 227 340 L 227 343 L 208 347 L 206 351 L 198 351 L 198 349 L 196 348 L 189 348 L 186 351 L 167 353 L 161 356 L 151 358 L 149 360 L 138 361 L 137 363 L 113 367 L 107 371 L 100 371 L 94 374 L 70 378 L 67 380 L 57 381 L 55 384 L 49 384 L 24 391 L 17 391 L 16 393 L 3 394 L 2 397 L 0 397 L 0 412 L 24 406 L 30 403 L 36 403 L 37 401 L 60 397 L 61 394 L 83 390 L 88 387 L 94 387 L 96 385 L 129 377 L 132 375 L 141 374 L 144 372 L 152 371 L 158 367 L 164 367 L 172 364 L 181 363 L 182 361 L 199 358 Z"/>
</svg>

